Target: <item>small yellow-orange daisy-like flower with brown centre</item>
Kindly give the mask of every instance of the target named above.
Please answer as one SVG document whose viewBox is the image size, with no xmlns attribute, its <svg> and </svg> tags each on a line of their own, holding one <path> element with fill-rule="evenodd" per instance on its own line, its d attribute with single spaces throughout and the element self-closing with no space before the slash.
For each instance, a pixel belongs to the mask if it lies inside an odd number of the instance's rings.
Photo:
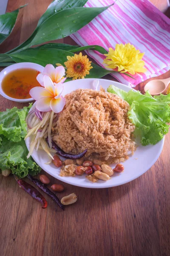
<svg viewBox="0 0 170 256">
<path fill-rule="evenodd" d="M 82 52 L 78 55 L 67 56 L 68 61 L 66 61 L 65 67 L 67 68 L 66 77 L 72 77 L 73 80 L 85 78 L 91 70 L 91 61 L 87 58 L 87 55 L 82 56 Z"/>
</svg>

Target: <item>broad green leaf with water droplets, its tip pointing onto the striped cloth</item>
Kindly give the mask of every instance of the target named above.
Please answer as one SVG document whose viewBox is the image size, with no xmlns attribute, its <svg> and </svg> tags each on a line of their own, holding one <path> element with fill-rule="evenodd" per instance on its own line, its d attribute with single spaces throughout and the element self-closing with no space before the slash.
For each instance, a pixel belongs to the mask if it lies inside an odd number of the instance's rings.
<svg viewBox="0 0 170 256">
<path fill-rule="evenodd" d="M 31 43 L 23 49 L 71 35 L 87 25 L 108 7 L 77 7 L 58 12 L 42 23 Z"/>
</svg>

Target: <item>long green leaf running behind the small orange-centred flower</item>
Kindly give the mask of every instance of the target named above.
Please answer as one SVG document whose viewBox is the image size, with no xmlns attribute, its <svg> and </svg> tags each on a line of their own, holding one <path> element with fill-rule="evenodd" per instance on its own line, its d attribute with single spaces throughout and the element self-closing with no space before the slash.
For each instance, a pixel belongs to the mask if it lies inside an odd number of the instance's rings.
<svg viewBox="0 0 170 256">
<path fill-rule="evenodd" d="M 64 51 L 61 49 L 26 49 L 22 52 L 14 52 L 10 54 L 11 58 L 15 62 L 34 62 L 45 67 L 46 64 L 61 63 L 67 61 L 67 56 L 74 56 L 74 53 Z M 90 74 L 85 76 L 85 78 L 100 78 L 109 73 L 114 73 L 116 71 L 106 70 L 102 67 L 97 66 L 92 63 L 93 69 L 90 70 Z"/>
</svg>

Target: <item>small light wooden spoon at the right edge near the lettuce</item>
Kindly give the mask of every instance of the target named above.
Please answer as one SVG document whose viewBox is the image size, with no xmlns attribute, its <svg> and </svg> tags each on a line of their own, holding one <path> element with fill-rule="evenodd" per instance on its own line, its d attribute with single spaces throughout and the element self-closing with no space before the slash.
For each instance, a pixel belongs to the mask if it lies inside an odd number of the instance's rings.
<svg viewBox="0 0 170 256">
<path fill-rule="evenodd" d="M 170 77 L 167 79 L 155 79 L 149 81 L 144 86 L 144 91 L 146 93 L 149 90 L 151 95 L 158 95 L 167 91 L 168 84 L 170 83 Z"/>
</svg>

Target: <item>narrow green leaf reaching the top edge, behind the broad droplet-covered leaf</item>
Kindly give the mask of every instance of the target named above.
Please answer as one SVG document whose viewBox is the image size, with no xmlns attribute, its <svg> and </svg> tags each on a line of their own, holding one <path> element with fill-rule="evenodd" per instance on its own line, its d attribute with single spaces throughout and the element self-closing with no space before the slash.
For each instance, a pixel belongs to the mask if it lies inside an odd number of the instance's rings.
<svg viewBox="0 0 170 256">
<path fill-rule="evenodd" d="M 23 44 L 20 44 L 18 47 L 12 49 L 10 52 L 14 52 L 14 50 L 21 49 L 25 47 L 27 44 L 29 44 L 34 36 L 37 34 L 37 31 L 39 27 L 42 25 L 45 20 L 47 20 L 52 15 L 56 14 L 57 12 L 60 12 L 62 10 L 73 8 L 73 7 L 82 7 L 85 5 L 87 0 L 54 0 L 47 8 L 46 12 L 40 17 L 40 20 L 38 21 L 37 27 L 32 33 L 32 35 L 25 41 Z"/>
</svg>

